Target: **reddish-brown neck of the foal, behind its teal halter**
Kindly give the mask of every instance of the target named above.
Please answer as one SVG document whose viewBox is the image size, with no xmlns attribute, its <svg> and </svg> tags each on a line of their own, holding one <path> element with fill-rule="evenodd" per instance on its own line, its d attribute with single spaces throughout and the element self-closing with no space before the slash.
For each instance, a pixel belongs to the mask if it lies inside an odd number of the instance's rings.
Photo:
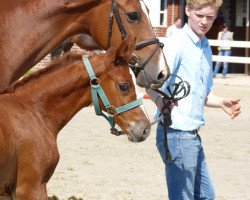
<svg viewBox="0 0 250 200">
<path fill-rule="evenodd" d="M 97 77 L 103 72 L 102 67 L 95 68 Z M 28 106 L 33 104 L 35 112 L 57 134 L 80 109 L 92 103 L 89 82 L 86 69 L 79 61 L 44 74 L 23 87 L 22 95 L 31 98 Z"/>
</svg>

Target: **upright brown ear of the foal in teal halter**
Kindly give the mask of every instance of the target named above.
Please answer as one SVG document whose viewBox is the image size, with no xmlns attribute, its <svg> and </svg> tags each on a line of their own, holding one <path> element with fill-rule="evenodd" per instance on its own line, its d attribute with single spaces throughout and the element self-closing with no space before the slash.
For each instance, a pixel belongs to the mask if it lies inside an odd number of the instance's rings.
<svg viewBox="0 0 250 200">
<path fill-rule="evenodd" d="M 132 57 L 132 52 L 135 50 L 136 37 L 128 35 L 117 49 L 115 61 L 129 61 Z"/>
</svg>

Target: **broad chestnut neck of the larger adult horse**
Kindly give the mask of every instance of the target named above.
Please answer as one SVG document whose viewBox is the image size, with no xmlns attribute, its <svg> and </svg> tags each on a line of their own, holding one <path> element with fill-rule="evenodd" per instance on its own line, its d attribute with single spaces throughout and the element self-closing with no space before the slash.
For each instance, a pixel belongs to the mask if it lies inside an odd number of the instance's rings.
<svg viewBox="0 0 250 200">
<path fill-rule="evenodd" d="M 87 11 L 67 13 L 64 2 L 26 0 L 17 6 L 16 1 L 8 0 L 0 6 L 3 13 L 0 16 L 0 66 L 4 66 L 0 88 L 19 79 L 65 38 L 77 32 L 88 32 Z M 75 23 L 78 19 L 84 23 Z M 19 31 L 13 37 L 15 30 Z"/>
</svg>

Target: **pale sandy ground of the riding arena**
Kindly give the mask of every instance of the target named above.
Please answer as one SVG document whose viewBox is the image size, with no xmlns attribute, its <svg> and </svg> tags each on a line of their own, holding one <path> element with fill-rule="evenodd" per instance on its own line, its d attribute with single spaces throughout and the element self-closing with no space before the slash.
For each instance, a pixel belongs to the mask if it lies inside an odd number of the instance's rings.
<svg viewBox="0 0 250 200">
<path fill-rule="evenodd" d="M 241 97 L 242 114 L 231 120 L 221 110 L 206 109 L 200 130 L 217 200 L 250 200 L 250 77 L 216 78 L 214 91 Z M 144 90 L 140 89 L 143 93 Z M 154 105 L 144 100 L 153 117 Z M 58 137 L 60 162 L 49 181 L 49 196 L 84 200 L 165 200 L 164 165 L 155 147 L 155 128 L 134 144 L 109 133 L 93 108 L 79 112 Z"/>
</svg>

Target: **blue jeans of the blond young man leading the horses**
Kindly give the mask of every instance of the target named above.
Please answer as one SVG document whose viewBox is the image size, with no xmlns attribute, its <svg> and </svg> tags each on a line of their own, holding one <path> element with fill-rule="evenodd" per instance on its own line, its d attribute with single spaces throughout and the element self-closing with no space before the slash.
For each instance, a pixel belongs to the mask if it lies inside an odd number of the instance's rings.
<svg viewBox="0 0 250 200">
<path fill-rule="evenodd" d="M 156 146 L 165 163 L 169 200 L 214 200 L 215 193 L 196 131 L 168 129 L 173 162 L 166 161 L 163 124 L 156 131 Z"/>
</svg>

